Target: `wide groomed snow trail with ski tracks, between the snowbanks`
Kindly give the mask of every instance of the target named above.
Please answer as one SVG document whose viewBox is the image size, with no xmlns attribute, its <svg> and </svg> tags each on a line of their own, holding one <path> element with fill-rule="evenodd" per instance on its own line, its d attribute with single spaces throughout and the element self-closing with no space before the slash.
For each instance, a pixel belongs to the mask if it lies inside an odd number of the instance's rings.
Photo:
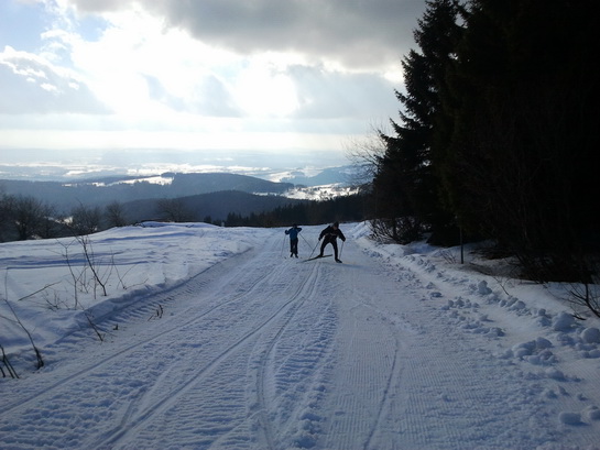
<svg viewBox="0 0 600 450">
<path fill-rule="evenodd" d="M 498 327 L 519 334 L 521 317 L 470 277 L 419 256 L 391 264 L 351 239 L 337 264 L 255 238 L 107 316 L 107 341 L 81 330 L 44 349 L 47 366 L 2 399 L 0 448 L 594 448 L 598 422 L 557 426 L 581 404 L 576 380 L 503 356 L 514 340 Z"/>
</svg>

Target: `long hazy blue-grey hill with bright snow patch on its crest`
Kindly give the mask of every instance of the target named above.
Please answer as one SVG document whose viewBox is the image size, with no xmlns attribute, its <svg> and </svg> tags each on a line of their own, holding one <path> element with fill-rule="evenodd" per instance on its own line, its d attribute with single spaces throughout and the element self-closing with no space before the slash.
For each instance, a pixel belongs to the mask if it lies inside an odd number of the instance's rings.
<svg viewBox="0 0 600 450">
<path fill-rule="evenodd" d="M 0 191 L 3 194 L 34 197 L 56 207 L 59 212 L 68 212 L 78 205 L 101 207 L 112 201 L 126 204 L 218 191 L 282 195 L 293 187 L 291 183 L 273 183 L 227 173 L 165 173 L 155 177 L 102 177 L 74 183 L 0 179 Z"/>
</svg>

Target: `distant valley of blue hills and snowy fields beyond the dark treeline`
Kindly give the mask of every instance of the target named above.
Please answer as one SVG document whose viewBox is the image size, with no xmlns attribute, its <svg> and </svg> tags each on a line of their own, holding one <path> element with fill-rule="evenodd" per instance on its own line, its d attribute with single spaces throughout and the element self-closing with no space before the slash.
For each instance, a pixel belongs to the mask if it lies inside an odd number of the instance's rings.
<svg viewBox="0 0 600 450">
<path fill-rule="evenodd" d="M 0 179 L 0 194 L 33 197 L 66 215 L 78 206 L 103 208 L 118 202 L 133 222 L 160 219 L 164 215 L 160 204 L 164 207 L 168 199 L 177 199 L 179 207 L 190 211 L 190 220 L 221 220 L 229 213 L 249 216 L 347 195 L 351 193 L 347 174 L 348 167 L 338 167 L 313 177 L 292 173 L 284 182 L 230 173 L 89 177 L 68 183 Z"/>
</svg>

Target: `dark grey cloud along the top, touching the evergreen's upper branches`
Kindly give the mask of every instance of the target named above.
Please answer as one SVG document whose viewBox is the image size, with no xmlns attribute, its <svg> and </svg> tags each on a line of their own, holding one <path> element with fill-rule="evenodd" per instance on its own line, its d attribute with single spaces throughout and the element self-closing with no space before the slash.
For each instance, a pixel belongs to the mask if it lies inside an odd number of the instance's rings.
<svg viewBox="0 0 600 450">
<path fill-rule="evenodd" d="M 78 4 L 84 0 L 73 0 Z M 346 68 L 399 63 L 413 43 L 422 0 L 161 0 L 144 8 L 170 26 L 242 54 L 294 51 Z"/>
</svg>

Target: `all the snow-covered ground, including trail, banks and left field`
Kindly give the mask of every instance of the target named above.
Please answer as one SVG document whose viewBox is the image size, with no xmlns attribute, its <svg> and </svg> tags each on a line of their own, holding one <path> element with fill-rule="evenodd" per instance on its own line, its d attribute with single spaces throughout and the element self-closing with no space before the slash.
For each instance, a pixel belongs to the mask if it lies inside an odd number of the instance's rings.
<svg viewBox="0 0 600 450">
<path fill-rule="evenodd" d="M 0 449 L 600 448 L 569 286 L 362 223 L 303 262 L 321 229 L 299 260 L 283 228 L 203 223 L 0 244 Z"/>
</svg>

